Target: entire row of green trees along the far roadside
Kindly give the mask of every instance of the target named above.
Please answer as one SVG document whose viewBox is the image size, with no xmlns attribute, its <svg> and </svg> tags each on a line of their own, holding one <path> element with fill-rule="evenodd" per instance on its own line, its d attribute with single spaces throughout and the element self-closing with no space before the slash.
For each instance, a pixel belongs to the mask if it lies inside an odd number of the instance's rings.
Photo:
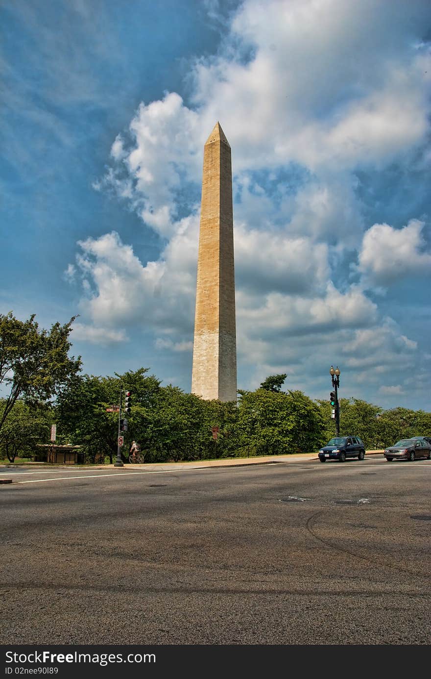
<svg viewBox="0 0 431 679">
<path fill-rule="evenodd" d="M 83 374 L 69 356 L 69 323 L 39 329 L 0 315 L 0 457 L 30 457 L 49 443 L 79 445 L 87 462 L 117 456 L 118 413 L 124 389 L 132 392 L 124 460 L 132 440 L 146 462 L 202 460 L 315 452 L 335 435 L 331 404 L 299 390 L 282 390 L 287 375 L 269 375 L 254 391 L 238 390 L 238 403 L 204 401 L 179 387 L 162 386 L 149 369 L 113 376 Z M 121 404 L 122 405 L 122 404 Z M 212 427 L 219 428 L 217 440 Z M 361 399 L 341 399 L 340 435 L 358 435 L 367 449 L 400 438 L 431 434 L 431 413 L 384 410 Z"/>
</svg>

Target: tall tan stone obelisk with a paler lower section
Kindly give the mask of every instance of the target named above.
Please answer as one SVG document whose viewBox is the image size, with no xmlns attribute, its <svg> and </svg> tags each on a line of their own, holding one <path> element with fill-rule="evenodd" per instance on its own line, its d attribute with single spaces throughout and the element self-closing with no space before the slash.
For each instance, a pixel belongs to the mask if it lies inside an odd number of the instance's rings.
<svg viewBox="0 0 431 679">
<path fill-rule="evenodd" d="M 218 122 L 204 146 L 191 391 L 236 401 L 231 147 Z"/>
</svg>

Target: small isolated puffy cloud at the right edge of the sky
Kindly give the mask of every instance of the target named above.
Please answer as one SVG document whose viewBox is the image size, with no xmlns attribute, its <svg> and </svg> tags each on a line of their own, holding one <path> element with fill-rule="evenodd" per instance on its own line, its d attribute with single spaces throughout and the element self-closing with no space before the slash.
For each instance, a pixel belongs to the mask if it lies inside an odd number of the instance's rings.
<svg viewBox="0 0 431 679">
<path fill-rule="evenodd" d="M 394 229 L 388 224 L 374 224 L 362 240 L 360 272 L 377 285 L 389 285 L 409 275 L 428 276 L 431 253 L 424 252 L 423 227 L 424 222 L 418 219 L 411 219 L 401 229 Z"/>
</svg>

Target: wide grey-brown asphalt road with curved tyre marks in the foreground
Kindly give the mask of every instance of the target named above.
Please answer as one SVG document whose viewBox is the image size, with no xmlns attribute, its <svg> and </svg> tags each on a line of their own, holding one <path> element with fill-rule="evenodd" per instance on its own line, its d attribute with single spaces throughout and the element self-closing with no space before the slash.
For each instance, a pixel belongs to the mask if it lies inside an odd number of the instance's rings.
<svg viewBox="0 0 431 679">
<path fill-rule="evenodd" d="M 431 461 L 1 473 L 1 644 L 431 642 Z"/>
</svg>

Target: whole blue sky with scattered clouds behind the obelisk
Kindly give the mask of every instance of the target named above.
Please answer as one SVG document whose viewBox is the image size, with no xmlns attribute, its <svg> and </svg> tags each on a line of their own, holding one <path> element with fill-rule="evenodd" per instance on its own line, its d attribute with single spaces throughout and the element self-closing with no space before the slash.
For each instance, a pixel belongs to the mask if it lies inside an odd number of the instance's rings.
<svg viewBox="0 0 431 679">
<path fill-rule="evenodd" d="M 238 386 L 431 410 L 428 0 L 5 0 L 0 312 L 191 386 L 203 145 L 232 149 Z"/>
</svg>

